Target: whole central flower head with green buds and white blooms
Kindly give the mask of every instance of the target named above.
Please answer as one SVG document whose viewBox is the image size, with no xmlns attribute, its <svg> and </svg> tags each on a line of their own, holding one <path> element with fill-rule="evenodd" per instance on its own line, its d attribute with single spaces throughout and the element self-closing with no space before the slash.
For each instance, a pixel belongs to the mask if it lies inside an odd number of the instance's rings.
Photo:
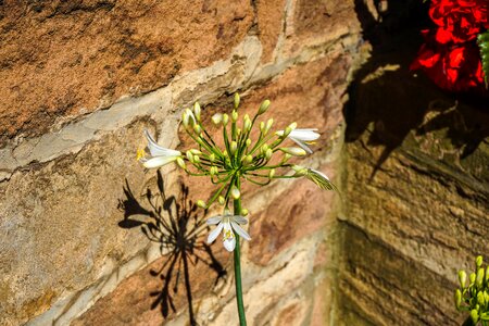
<svg viewBox="0 0 489 326">
<path fill-rule="evenodd" d="M 309 146 L 319 137 L 317 129 L 299 129 L 296 123 L 291 123 L 285 129 L 273 133 L 271 131 L 273 118 L 258 123 L 260 116 L 271 106 L 268 100 L 261 103 L 252 118 L 244 114 L 240 120 L 239 104 L 240 97 L 236 93 L 231 113 L 216 113 L 211 118 L 214 126 L 222 129 L 213 130 L 213 133 L 222 133 L 220 145 L 202 124 L 202 110 L 196 102 L 192 109 L 184 110 L 181 123 L 197 147 L 185 153 L 166 149 L 160 147 L 151 135 L 146 133 L 151 156 L 147 158 L 146 152 L 139 151 L 138 160 L 148 168 L 175 162 L 188 175 L 209 177 L 214 185 L 218 185 L 218 188 L 209 200 L 199 200 L 197 204 L 202 209 L 209 209 L 214 202 L 220 203 L 223 205 L 224 213 L 216 217 L 225 222 L 222 227 L 225 231 L 224 237 L 233 238 L 234 233 L 237 233 L 242 238 L 249 239 L 250 237 L 238 225 L 243 224 L 244 221 L 226 213 L 229 212 L 230 203 L 240 199 L 242 181 L 265 186 L 277 178 L 306 177 L 322 189 L 333 190 L 335 187 L 323 173 L 289 162 L 292 156 L 312 153 Z M 251 131 L 255 125 L 260 126 L 260 133 L 253 140 Z M 284 146 L 287 139 L 293 141 L 297 147 Z M 240 216 L 247 214 L 246 209 L 240 209 Z M 212 220 L 210 224 L 221 225 L 222 223 L 217 220 Z M 215 239 L 215 236 L 213 233 L 210 240 Z M 234 249 L 234 246 L 229 244 L 228 248 Z"/>
</svg>

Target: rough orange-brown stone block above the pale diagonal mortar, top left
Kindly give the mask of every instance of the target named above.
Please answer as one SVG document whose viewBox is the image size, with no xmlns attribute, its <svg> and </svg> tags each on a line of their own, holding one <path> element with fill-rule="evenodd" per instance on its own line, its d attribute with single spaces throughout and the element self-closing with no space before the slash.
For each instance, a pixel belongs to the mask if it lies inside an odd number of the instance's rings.
<svg viewBox="0 0 489 326">
<path fill-rule="evenodd" d="M 253 21 L 249 1 L 8 1 L 0 11 L 0 145 L 224 59 Z"/>
</svg>

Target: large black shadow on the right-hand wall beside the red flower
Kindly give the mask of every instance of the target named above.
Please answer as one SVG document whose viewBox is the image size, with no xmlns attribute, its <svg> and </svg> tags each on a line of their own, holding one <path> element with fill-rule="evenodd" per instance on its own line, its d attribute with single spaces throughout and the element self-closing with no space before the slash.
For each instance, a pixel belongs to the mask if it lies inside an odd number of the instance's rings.
<svg viewBox="0 0 489 326">
<path fill-rule="evenodd" d="M 455 160 L 463 160 L 489 136 L 487 98 L 443 91 L 423 73 L 409 70 L 423 42 L 419 30 L 431 24 L 428 5 L 418 0 L 390 0 L 388 11 L 378 15 L 372 14 L 364 1 L 355 1 L 364 38 L 372 49 L 348 90 L 346 141 L 360 140 L 365 148 L 384 147 L 371 180 L 406 140 L 415 143 L 426 136 L 441 136 L 449 140 L 436 150 L 441 159 L 450 151 Z"/>
</svg>

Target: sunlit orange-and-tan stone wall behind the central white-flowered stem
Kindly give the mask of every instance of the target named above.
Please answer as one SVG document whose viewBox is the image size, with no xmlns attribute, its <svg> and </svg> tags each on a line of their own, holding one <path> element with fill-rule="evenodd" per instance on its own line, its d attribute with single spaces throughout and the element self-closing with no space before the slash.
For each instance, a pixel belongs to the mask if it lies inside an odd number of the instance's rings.
<svg viewBox="0 0 489 326">
<path fill-rule="evenodd" d="M 277 127 L 319 128 L 306 164 L 336 179 L 360 58 L 353 1 L 5 1 L 0 11 L 0 324 L 236 324 L 230 255 L 203 243 L 193 210 L 212 187 L 173 167 L 145 173 L 142 130 L 183 147 L 178 121 L 193 101 L 209 118 L 234 91 L 243 111 L 269 98 Z M 327 323 L 338 199 L 304 180 L 244 192 L 250 324 Z"/>
</svg>

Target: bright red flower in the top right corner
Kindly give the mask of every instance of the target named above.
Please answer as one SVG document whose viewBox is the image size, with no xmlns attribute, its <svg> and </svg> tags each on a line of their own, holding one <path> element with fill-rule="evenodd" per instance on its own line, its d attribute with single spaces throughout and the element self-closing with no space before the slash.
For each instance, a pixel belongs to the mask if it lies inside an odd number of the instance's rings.
<svg viewBox="0 0 489 326">
<path fill-rule="evenodd" d="M 436 40 L 461 43 L 489 26 L 488 0 L 432 0 L 429 16 L 437 24 Z"/>
</svg>

